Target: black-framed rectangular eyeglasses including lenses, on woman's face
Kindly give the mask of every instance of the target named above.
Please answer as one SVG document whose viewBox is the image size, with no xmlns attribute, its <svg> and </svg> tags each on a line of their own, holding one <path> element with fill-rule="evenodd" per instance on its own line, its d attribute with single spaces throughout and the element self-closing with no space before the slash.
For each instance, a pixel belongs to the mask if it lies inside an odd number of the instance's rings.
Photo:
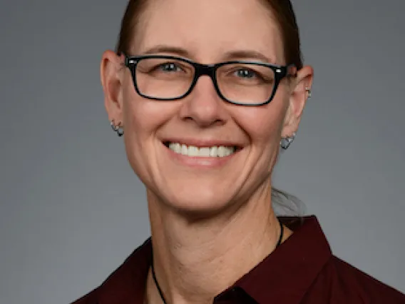
<svg viewBox="0 0 405 304">
<path fill-rule="evenodd" d="M 276 66 L 252 61 L 198 64 L 175 56 L 125 56 L 135 91 L 145 98 L 175 101 L 193 91 L 200 76 L 209 76 L 218 96 L 242 106 L 272 101 L 282 78 L 296 73 L 294 65 Z"/>
</svg>

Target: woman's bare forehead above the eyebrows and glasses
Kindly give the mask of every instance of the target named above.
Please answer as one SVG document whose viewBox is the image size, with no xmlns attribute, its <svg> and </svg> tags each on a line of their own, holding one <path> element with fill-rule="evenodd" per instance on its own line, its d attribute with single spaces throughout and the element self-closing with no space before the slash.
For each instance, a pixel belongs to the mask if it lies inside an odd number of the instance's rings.
<svg viewBox="0 0 405 304">
<path fill-rule="evenodd" d="M 191 59 L 206 63 L 246 50 L 284 64 L 277 21 L 259 0 L 151 0 L 131 51 L 159 45 L 186 49 Z"/>
</svg>

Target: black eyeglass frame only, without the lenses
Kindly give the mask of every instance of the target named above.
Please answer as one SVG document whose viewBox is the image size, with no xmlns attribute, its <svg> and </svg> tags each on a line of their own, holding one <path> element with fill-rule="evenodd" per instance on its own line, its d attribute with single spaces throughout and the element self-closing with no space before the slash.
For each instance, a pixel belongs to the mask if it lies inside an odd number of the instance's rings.
<svg viewBox="0 0 405 304">
<path fill-rule="evenodd" d="M 295 76 L 295 74 L 289 74 L 289 71 L 295 68 L 294 64 L 289 64 L 287 66 L 278 66 L 275 64 L 267 64 L 265 62 L 260 61 L 224 61 L 217 64 L 198 64 L 197 62 L 191 61 L 190 59 L 185 59 L 183 57 L 177 56 L 167 56 L 167 55 L 126 56 L 125 54 L 123 55 L 125 56 L 125 63 L 124 63 L 125 66 L 128 67 L 128 69 L 130 69 L 133 79 L 133 86 L 135 87 L 136 93 L 138 93 L 140 96 L 144 98 L 153 99 L 157 101 L 175 101 L 185 98 L 185 96 L 188 96 L 193 91 L 193 88 L 195 87 L 195 84 L 197 83 L 198 78 L 200 78 L 200 76 L 209 76 L 212 80 L 212 83 L 214 84 L 215 91 L 217 91 L 218 96 L 220 96 L 222 100 L 227 101 L 228 103 L 235 104 L 237 106 L 264 106 L 265 104 L 270 103 L 270 101 L 272 101 L 272 99 L 274 98 L 277 88 L 280 85 L 280 82 L 282 81 L 282 78 L 286 76 Z M 182 96 L 178 96 L 175 98 L 152 97 L 141 93 L 139 91 L 138 84 L 136 83 L 136 66 L 143 59 L 173 59 L 176 61 L 183 61 L 187 64 L 190 64 L 194 68 L 194 78 L 190 84 L 190 88 Z M 217 69 L 227 64 L 252 64 L 257 66 L 266 66 L 267 68 L 272 69 L 272 71 L 275 74 L 275 84 L 273 86 L 270 98 L 267 99 L 267 101 L 261 103 L 240 103 L 237 101 L 231 101 L 230 99 L 227 99 L 225 96 L 223 96 L 217 83 Z"/>
</svg>

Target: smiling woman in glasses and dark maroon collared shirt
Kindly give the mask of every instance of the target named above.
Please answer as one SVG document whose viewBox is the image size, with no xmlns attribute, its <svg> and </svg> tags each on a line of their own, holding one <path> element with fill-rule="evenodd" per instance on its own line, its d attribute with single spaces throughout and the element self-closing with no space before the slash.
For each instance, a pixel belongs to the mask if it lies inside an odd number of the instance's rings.
<svg viewBox="0 0 405 304">
<path fill-rule="evenodd" d="M 334 257 L 316 218 L 275 216 L 312 77 L 288 0 L 131 0 L 101 81 L 152 238 L 75 303 L 405 303 Z"/>
</svg>

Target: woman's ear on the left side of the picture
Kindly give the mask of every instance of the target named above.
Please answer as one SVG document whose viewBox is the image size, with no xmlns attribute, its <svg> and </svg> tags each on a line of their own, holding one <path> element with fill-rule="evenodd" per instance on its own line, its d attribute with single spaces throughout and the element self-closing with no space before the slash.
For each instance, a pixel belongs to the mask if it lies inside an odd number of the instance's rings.
<svg viewBox="0 0 405 304">
<path fill-rule="evenodd" d="M 101 59 L 101 84 L 109 121 L 123 121 L 123 58 L 105 51 Z"/>
</svg>

